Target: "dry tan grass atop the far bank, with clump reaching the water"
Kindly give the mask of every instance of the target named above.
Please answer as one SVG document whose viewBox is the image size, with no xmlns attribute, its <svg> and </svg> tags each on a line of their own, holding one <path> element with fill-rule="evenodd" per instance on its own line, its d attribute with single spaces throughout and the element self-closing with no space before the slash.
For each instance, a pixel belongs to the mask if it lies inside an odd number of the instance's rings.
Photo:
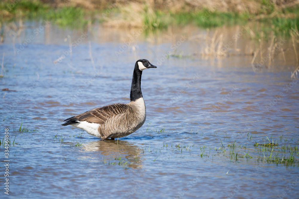
<svg viewBox="0 0 299 199">
<path fill-rule="evenodd" d="M 12 0 L 6 0 L 12 1 Z M 105 26 L 109 27 L 141 27 L 145 16 L 155 19 L 155 10 L 172 13 L 196 12 L 208 9 L 211 12 L 249 13 L 256 15 L 255 20 L 271 18 L 279 14 L 285 7 L 299 4 L 299 0 L 269 0 L 274 2 L 274 12 L 267 14 L 271 4 L 262 4 L 263 0 L 40 0 L 54 7 L 74 6 L 87 10 L 108 10 Z M 110 12 L 111 11 L 111 12 Z M 112 13 L 112 14 L 111 14 Z M 102 14 L 99 13 L 100 18 Z M 290 14 L 295 15 L 295 14 Z M 292 17 L 292 16 L 283 16 Z"/>
</svg>

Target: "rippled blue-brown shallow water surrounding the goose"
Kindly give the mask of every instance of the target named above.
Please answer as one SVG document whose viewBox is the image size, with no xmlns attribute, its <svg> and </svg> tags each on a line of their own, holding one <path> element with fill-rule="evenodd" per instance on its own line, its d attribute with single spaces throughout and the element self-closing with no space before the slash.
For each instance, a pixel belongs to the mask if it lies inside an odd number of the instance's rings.
<svg viewBox="0 0 299 199">
<path fill-rule="evenodd" d="M 142 33 L 117 57 L 132 32 L 94 26 L 72 56 L 54 64 L 68 50 L 65 37 L 77 41 L 84 31 L 51 25 L 15 55 L 13 46 L 19 48 L 40 25 L 25 23 L 15 44 L 7 33 L 0 46 L 6 70 L 1 89 L 16 90 L 1 91 L 0 98 L 1 172 L 10 160 L 10 198 L 298 197 L 299 87 L 290 79 L 292 53 L 288 64 L 277 58 L 258 71 L 251 67 L 252 56 L 170 56 L 160 63 L 180 35 L 206 30 L 176 30 L 168 40 L 161 38 L 170 30 L 159 37 Z M 184 41 L 176 54 L 189 55 L 200 45 Z M 136 58 L 157 65 L 142 76 L 143 127 L 126 138 L 99 141 L 60 125 L 95 107 L 127 103 Z M 4 128 L 13 142 L 9 158 L 3 158 Z M 268 139 L 278 146 L 264 152 L 254 146 Z M 264 161 L 271 150 L 279 157 L 294 152 L 295 163 Z M 1 177 L 1 198 L 7 197 L 4 181 Z"/>
</svg>

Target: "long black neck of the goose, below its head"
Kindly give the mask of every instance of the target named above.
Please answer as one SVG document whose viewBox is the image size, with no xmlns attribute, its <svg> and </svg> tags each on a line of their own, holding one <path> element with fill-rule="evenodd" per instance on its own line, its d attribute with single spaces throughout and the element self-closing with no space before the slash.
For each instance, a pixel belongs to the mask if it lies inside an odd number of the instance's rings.
<svg viewBox="0 0 299 199">
<path fill-rule="evenodd" d="M 142 98 L 141 75 L 142 71 L 135 67 L 132 78 L 130 101 L 135 101 L 139 98 Z"/>
</svg>

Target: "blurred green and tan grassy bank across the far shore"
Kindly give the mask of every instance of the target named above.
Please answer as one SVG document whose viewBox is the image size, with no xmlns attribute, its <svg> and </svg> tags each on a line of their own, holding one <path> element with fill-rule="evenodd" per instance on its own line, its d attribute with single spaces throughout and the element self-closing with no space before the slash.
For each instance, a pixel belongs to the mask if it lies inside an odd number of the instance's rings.
<svg viewBox="0 0 299 199">
<path fill-rule="evenodd" d="M 147 1 L 143 4 L 133 1 L 122 1 L 121 4 L 114 1 L 103 3 L 97 0 L 91 1 L 94 4 L 78 2 L 47 4 L 39 0 L 5 0 L 0 3 L 1 22 L 22 18 L 25 20 L 44 19 L 72 28 L 85 27 L 89 22 L 101 22 L 106 26 L 142 27 L 149 25 L 152 28 L 163 29 L 170 25 L 194 24 L 208 28 L 260 21 L 266 24 L 268 30 L 275 32 L 287 33 L 292 28 L 299 30 L 298 4 L 277 5 L 269 0 L 252 1 L 254 3 L 252 5 L 246 5 L 244 2 L 231 5 L 228 1 L 226 10 L 223 10 L 222 5 L 216 0 L 209 8 L 202 5 L 196 7 L 182 1 L 180 7 L 176 9 L 171 4 L 150 5 Z M 171 2 L 176 3 L 174 0 Z M 246 6 L 249 8 L 247 9 Z M 240 10 L 239 7 L 242 9 Z"/>
</svg>

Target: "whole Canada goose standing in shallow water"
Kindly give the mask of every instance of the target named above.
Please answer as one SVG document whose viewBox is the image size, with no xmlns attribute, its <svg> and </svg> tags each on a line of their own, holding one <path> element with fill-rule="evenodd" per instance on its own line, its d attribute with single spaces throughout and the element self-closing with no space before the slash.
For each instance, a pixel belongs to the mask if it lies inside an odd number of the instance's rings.
<svg viewBox="0 0 299 199">
<path fill-rule="evenodd" d="M 81 113 L 65 120 L 63 126 L 84 129 L 88 134 L 105 140 L 121 138 L 135 132 L 145 122 L 145 103 L 141 93 L 141 75 L 147 68 L 157 68 L 146 59 L 135 63 L 130 102 L 112 104 Z"/>
</svg>

